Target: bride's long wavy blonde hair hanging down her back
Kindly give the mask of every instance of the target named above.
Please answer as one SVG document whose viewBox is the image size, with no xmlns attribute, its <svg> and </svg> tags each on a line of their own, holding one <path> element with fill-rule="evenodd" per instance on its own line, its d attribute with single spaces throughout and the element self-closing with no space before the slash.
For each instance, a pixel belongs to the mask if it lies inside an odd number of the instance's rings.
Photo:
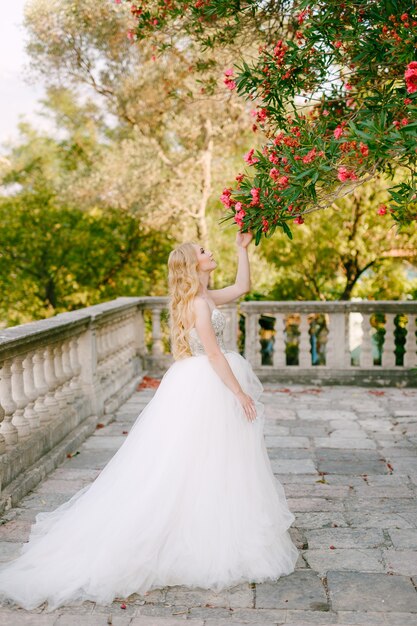
<svg viewBox="0 0 417 626">
<path fill-rule="evenodd" d="M 198 258 L 194 243 L 183 243 L 168 257 L 169 324 L 174 359 L 191 356 L 188 333 L 194 326 L 192 306 L 200 289 Z"/>
</svg>

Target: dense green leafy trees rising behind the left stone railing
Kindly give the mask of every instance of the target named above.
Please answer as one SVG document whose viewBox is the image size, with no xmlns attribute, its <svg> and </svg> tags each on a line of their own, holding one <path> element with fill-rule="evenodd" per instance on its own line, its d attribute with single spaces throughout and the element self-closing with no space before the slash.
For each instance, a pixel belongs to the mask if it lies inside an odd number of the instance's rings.
<svg viewBox="0 0 417 626">
<path fill-rule="evenodd" d="M 115 210 L 57 207 L 20 195 L 0 202 L 2 325 L 117 297 L 165 293 L 170 241 Z"/>
</svg>

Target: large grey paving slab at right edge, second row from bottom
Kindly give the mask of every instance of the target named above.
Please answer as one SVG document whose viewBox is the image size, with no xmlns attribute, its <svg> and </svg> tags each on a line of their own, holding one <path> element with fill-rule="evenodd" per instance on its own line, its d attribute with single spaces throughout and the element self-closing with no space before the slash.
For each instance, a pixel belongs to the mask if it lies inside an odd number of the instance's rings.
<svg viewBox="0 0 417 626">
<path fill-rule="evenodd" d="M 363 572 L 327 573 L 332 608 L 335 611 L 417 612 L 417 593 L 405 576 Z"/>
</svg>

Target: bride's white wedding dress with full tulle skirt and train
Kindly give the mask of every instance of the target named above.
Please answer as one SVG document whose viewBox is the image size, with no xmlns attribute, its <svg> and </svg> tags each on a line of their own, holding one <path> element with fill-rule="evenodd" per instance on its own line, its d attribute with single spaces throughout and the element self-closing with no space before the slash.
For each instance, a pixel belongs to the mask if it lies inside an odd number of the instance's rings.
<svg viewBox="0 0 417 626">
<path fill-rule="evenodd" d="M 295 520 L 264 436 L 262 384 L 218 343 L 256 404 L 247 420 L 191 331 L 193 356 L 175 361 L 93 483 L 38 513 L 20 555 L 0 568 L 0 598 L 46 610 L 143 594 L 167 585 L 216 592 L 294 571 Z"/>
</svg>

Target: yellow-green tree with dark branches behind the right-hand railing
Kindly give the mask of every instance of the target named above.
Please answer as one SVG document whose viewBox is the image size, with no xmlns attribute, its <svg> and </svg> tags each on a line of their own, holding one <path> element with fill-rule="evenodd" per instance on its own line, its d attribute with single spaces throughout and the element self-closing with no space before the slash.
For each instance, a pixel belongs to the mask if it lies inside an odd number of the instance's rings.
<svg viewBox="0 0 417 626">
<path fill-rule="evenodd" d="M 265 259 L 278 271 L 268 297 L 277 300 L 390 300 L 413 297 L 417 288 L 417 233 L 400 233 L 375 209 L 383 183 L 355 189 L 326 213 L 314 214 L 290 242 L 267 240 Z M 414 277 L 413 277 L 414 276 Z"/>
</svg>

